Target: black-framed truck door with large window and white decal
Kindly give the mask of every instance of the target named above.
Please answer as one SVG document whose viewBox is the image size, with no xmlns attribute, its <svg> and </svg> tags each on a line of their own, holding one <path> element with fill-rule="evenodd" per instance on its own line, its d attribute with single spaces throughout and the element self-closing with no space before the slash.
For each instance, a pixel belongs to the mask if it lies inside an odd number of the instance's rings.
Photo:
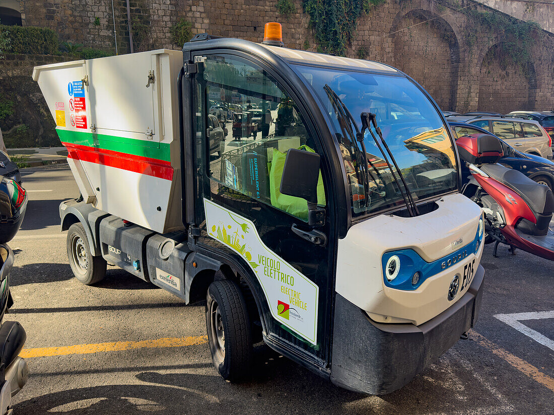
<svg viewBox="0 0 554 415">
<path fill-rule="evenodd" d="M 239 53 L 193 56 L 198 243 L 241 263 L 254 281 L 268 340 L 325 366 L 334 284 L 335 236 L 330 221 L 329 173 L 321 163 L 318 204 L 326 207 L 316 245 L 293 231 L 310 230 L 303 199 L 280 193 L 290 148 L 320 153 L 315 129 L 299 100 L 270 68 Z M 227 108 L 227 134 L 210 144 L 210 108 Z M 320 153 L 321 154 L 321 153 Z M 291 347 L 291 345 L 296 347 Z"/>
</svg>

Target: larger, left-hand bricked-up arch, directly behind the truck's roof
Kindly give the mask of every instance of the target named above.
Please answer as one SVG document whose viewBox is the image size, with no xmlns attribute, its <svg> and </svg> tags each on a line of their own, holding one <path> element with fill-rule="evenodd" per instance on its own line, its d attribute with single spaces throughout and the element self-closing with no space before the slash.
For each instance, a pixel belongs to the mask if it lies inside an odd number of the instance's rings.
<svg viewBox="0 0 554 415">
<path fill-rule="evenodd" d="M 401 11 L 389 30 L 394 66 L 423 85 L 443 110 L 454 110 L 458 97 L 458 27 L 430 9 Z"/>
</svg>

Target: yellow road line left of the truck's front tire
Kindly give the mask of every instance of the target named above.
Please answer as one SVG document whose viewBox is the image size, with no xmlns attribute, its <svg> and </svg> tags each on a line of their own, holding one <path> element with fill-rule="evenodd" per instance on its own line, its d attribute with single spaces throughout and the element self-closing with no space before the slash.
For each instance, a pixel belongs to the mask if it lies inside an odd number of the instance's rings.
<svg viewBox="0 0 554 415">
<path fill-rule="evenodd" d="M 86 355 L 101 351 L 119 351 L 131 349 L 152 349 L 155 347 L 182 347 L 207 343 L 208 336 L 189 336 L 181 338 L 165 338 L 141 341 L 114 341 L 112 343 L 78 344 L 61 347 L 39 347 L 38 349 L 23 349 L 19 356 L 46 357 L 63 355 Z"/>
</svg>

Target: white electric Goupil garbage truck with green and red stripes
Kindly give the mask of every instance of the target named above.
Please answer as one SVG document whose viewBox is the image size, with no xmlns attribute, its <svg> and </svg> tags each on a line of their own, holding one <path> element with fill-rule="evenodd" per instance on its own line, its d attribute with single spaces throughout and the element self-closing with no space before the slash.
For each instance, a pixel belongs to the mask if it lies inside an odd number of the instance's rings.
<svg viewBox="0 0 554 415">
<path fill-rule="evenodd" d="M 205 301 L 225 379 L 248 377 L 263 340 L 380 395 L 475 324 L 482 212 L 459 193 L 439 107 L 403 72 L 201 34 L 33 79 L 80 190 L 59 208 L 75 277 L 110 262 Z"/>
</svg>

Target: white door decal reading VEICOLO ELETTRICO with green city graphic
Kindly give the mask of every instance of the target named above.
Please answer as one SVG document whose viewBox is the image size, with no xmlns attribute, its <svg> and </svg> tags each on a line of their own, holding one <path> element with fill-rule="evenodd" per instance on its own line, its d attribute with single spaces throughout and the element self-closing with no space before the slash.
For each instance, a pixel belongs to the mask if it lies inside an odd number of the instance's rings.
<svg viewBox="0 0 554 415">
<path fill-rule="evenodd" d="M 208 235 L 247 261 L 264 290 L 271 315 L 316 344 L 319 295 L 316 284 L 266 247 L 250 220 L 207 199 L 204 211 Z"/>
</svg>

